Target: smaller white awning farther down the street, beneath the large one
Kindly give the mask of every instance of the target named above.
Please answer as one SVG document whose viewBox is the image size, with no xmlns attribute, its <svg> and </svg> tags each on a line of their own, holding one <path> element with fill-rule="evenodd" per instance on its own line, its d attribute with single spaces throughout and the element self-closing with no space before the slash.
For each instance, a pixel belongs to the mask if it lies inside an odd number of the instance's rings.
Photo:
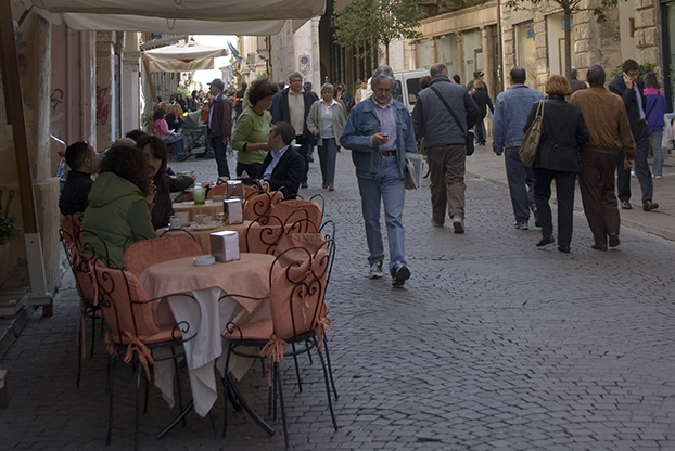
<svg viewBox="0 0 675 451">
<path fill-rule="evenodd" d="M 150 72 L 190 72 L 214 68 L 214 57 L 227 56 L 225 48 L 176 44 L 145 50 L 142 57 Z"/>
</svg>

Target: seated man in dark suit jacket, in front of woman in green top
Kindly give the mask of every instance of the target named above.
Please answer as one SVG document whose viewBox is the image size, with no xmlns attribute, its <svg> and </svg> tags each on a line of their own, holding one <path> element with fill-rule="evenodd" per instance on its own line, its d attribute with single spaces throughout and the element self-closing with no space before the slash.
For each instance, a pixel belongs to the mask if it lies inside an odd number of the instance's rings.
<svg viewBox="0 0 675 451">
<path fill-rule="evenodd" d="M 267 136 L 267 144 L 271 149 L 258 173 L 258 178 L 267 180 L 272 191 L 285 188 L 285 197 L 293 198 L 297 194 L 301 180 L 305 173 L 305 159 L 291 147 L 295 138 L 295 129 L 289 123 L 277 123 Z"/>
</svg>

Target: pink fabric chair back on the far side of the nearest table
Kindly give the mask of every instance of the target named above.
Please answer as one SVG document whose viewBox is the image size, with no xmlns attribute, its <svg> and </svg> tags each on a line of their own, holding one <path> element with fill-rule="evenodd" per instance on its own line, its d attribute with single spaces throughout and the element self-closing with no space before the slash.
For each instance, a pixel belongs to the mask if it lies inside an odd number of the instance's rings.
<svg viewBox="0 0 675 451">
<path fill-rule="evenodd" d="M 202 247 L 190 236 L 167 235 L 133 243 L 124 254 L 124 265 L 127 271 L 140 278 L 153 265 L 203 254 Z"/>
</svg>

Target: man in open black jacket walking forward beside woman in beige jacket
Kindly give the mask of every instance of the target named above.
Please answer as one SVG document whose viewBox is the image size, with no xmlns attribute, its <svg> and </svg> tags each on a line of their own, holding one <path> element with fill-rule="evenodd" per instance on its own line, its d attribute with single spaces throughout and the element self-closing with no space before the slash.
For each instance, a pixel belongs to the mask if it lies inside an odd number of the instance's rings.
<svg viewBox="0 0 675 451">
<path fill-rule="evenodd" d="M 302 177 L 302 186 L 307 188 L 307 168 L 309 167 L 309 146 L 313 145 L 313 136 L 307 129 L 307 115 L 311 104 L 319 96 L 311 91 L 303 89 L 303 76 L 294 72 L 289 77 L 290 87 L 281 93 L 279 108 L 275 112 L 272 123 L 289 123 L 297 133 L 295 143 L 300 145 L 300 154 L 305 159 L 305 173 Z"/>
</svg>

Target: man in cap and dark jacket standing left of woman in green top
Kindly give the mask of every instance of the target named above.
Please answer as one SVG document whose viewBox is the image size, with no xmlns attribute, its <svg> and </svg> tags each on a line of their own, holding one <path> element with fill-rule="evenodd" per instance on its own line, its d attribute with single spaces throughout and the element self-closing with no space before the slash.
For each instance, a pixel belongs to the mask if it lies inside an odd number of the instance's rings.
<svg viewBox="0 0 675 451">
<path fill-rule="evenodd" d="M 211 109 L 208 111 L 208 136 L 212 139 L 216 164 L 218 165 L 218 177 L 230 178 L 230 168 L 227 164 L 227 144 L 230 142 L 232 133 L 232 109 L 230 102 L 225 98 L 222 91 L 225 83 L 220 78 L 214 79 L 211 83 Z"/>
</svg>

